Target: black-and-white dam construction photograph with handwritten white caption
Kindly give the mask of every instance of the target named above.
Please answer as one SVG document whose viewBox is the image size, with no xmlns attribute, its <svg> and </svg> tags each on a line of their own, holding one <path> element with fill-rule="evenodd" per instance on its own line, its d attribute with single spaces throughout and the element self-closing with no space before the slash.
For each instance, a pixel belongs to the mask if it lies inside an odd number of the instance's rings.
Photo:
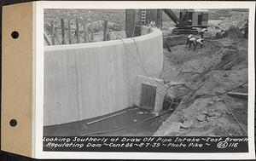
<svg viewBox="0 0 256 161">
<path fill-rule="evenodd" d="M 250 151 L 251 9 L 82 4 L 43 9 L 44 152 Z"/>
</svg>

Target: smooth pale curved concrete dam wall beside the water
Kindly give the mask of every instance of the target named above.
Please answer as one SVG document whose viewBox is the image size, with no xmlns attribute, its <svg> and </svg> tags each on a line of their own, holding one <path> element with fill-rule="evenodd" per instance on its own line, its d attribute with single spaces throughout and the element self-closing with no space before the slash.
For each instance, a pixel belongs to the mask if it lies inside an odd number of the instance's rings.
<svg viewBox="0 0 256 161">
<path fill-rule="evenodd" d="M 44 125 L 94 118 L 132 106 L 137 75 L 159 78 L 162 46 L 158 29 L 123 40 L 45 46 Z"/>
</svg>

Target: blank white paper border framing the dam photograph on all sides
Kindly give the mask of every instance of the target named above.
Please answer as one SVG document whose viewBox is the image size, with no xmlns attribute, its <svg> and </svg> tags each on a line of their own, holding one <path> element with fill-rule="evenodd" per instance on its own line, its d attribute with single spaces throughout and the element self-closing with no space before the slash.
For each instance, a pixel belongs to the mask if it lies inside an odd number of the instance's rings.
<svg viewBox="0 0 256 161">
<path fill-rule="evenodd" d="M 255 2 L 217 1 L 39 1 L 33 2 L 33 158 L 95 159 L 253 159 Z M 249 9 L 248 151 L 249 152 L 44 152 L 44 9 Z"/>
</svg>

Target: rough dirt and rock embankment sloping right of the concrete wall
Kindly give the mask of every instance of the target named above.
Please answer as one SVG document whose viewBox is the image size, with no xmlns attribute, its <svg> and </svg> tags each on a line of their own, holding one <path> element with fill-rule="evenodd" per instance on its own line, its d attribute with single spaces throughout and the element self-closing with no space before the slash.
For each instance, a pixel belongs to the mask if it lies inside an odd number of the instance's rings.
<svg viewBox="0 0 256 161">
<path fill-rule="evenodd" d="M 161 78 L 186 83 L 187 90 L 169 89 L 185 96 L 154 135 L 247 135 L 247 99 L 227 95 L 247 93 L 246 39 L 208 40 L 196 51 L 177 45 L 165 52 Z"/>
</svg>

